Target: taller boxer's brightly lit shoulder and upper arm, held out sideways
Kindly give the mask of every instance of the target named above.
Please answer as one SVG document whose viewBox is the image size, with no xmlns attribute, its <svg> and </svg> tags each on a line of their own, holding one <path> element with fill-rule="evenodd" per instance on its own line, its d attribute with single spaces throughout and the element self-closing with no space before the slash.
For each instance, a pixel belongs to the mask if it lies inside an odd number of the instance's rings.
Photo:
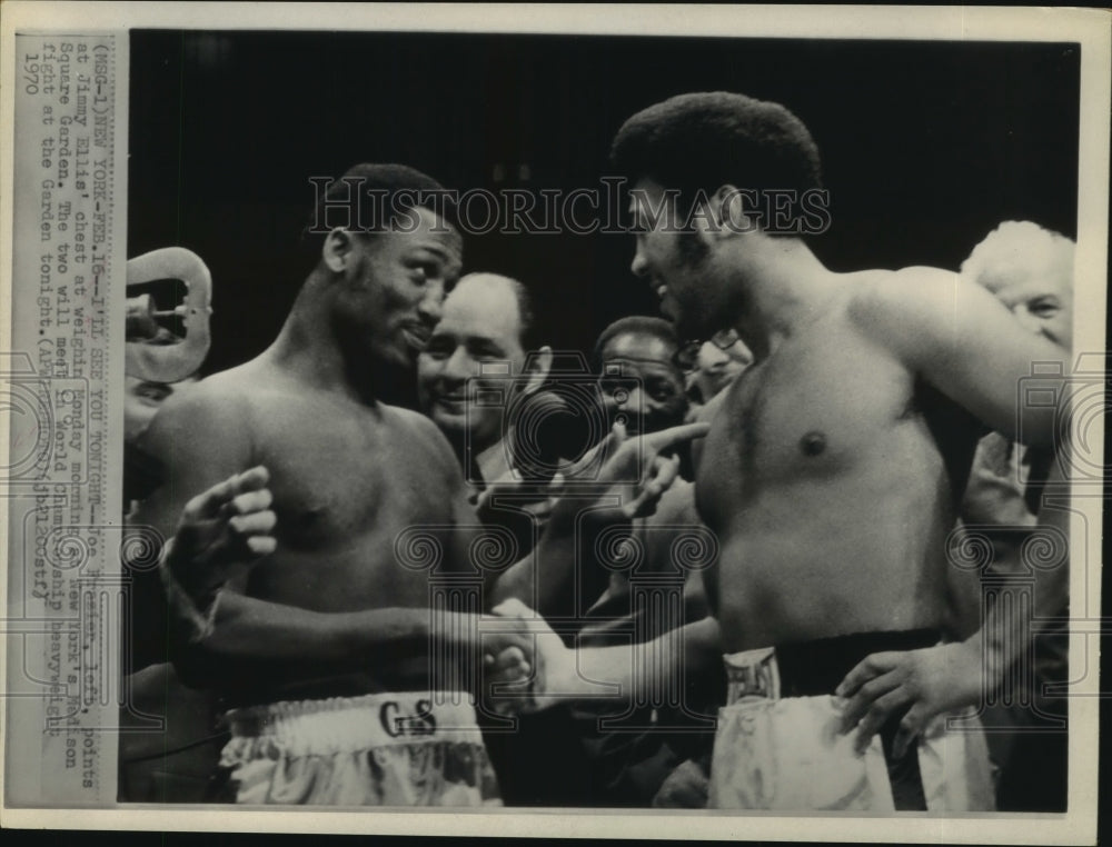
<svg viewBox="0 0 1112 847">
<path fill-rule="evenodd" d="M 1023 402 L 1024 385 L 1065 390 L 1069 351 L 1025 330 L 989 291 L 956 273 L 910 268 L 864 289 L 854 317 L 884 349 L 991 429 L 1053 449 L 1061 410 Z M 1059 378 L 1032 380 L 1034 363 Z M 1045 393 L 1043 395 L 1045 396 Z"/>
</svg>

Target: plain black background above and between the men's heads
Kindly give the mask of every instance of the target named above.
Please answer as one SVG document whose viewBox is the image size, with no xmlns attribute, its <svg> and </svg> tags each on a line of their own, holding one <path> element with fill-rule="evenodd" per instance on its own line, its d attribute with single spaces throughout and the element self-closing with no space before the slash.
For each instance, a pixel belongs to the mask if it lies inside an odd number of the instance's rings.
<svg viewBox="0 0 1112 847">
<path fill-rule="evenodd" d="M 1079 70 L 1066 43 L 136 31 L 128 255 L 205 259 L 221 370 L 272 340 L 304 279 L 310 176 L 397 161 L 460 191 L 597 188 L 625 118 L 726 89 L 810 127 L 831 268 L 956 269 L 1003 220 L 1075 237 Z M 632 236 L 471 236 L 464 258 L 526 282 L 554 347 L 655 313 Z"/>
</svg>

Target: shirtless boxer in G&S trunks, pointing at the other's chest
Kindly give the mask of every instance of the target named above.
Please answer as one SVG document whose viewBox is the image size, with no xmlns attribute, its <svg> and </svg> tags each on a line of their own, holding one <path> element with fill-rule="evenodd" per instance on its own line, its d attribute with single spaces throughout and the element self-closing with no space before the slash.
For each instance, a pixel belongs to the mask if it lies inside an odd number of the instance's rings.
<svg viewBox="0 0 1112 847">
<path fill-rule="evenodd" d="M 232 707 L 221 764 L 236 800 L 496 801 L 473 692 L 444 687 L 478 660 L 474 615 L 430 608 L 437 577 L 487 576 L 468 556 L 474 512 L 436 427 L 377 400 L 413 380 L 460 239 L 413 205 L 440 190 L 428 177 L 400 166 L 347 177 L 399 215 L 328 230 L 270 348 L 163 408 L 147 439 L 169 482 L 138 522 L 177 527 L 163 572 L 209 618 L 176 664 Z M 565 532 L 570 522 L 554 516 Z M 549 532 L 538 556 L 568 556 L 570 544 Z M 225 585 L 229 562 L 240 567 Z M 538 589 L 532 565 L 504 569 L 488 604 L 515 590 L 533 599 L 556 578 L 542 574 Z"/>
</svg>

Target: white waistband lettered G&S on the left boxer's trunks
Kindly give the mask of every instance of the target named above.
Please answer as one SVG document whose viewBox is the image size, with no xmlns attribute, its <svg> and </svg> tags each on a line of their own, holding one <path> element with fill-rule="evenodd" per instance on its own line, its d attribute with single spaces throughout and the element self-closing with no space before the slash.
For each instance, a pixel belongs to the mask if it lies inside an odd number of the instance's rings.
<svg viewBox="0 0 1112 847">
<path fill-rule="evenodd" d="M 231 709 L 225 721 L 234 740 L 265 740 L 301 754 L 413 744 L 483 744 L 470 697 L 459 691 L 284 700 Z"/>
</svg>

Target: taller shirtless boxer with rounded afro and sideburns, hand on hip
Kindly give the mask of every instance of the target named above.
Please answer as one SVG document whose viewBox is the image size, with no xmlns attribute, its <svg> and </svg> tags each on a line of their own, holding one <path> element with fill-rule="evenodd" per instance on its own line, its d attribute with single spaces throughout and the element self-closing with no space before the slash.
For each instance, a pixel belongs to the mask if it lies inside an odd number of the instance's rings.
<svg viewBox="0 0 1112 847">
<path fill-rule="evenodd" d="M 673 98 L 631 118 L 613 152 L 635 189 L 634 272 L 682 337 L 733 328 L 754 355 L 696 477 L 721 546 L 708 594 L 729 687 L 711 805 L 990 808 L 983 738 L 944 716 L 1024 645 L 994 614 L 940 644 L 945 545 L 976 421 L 1015 434 L 1020 380 L 1036 361 L 1068 372 L 1065 351 L 954 273 L 827 270 L 798 217 L 762 202 L 821 185 L 810 133 L 778 104 Z M 1022 411 L 1024 438 L 1053 447 L 1058 410 Z M 607 657 L 585 652 L 578 672 L 558 649 L 537 661 L 555 690 L 608 678 Z"/>
</svg>

